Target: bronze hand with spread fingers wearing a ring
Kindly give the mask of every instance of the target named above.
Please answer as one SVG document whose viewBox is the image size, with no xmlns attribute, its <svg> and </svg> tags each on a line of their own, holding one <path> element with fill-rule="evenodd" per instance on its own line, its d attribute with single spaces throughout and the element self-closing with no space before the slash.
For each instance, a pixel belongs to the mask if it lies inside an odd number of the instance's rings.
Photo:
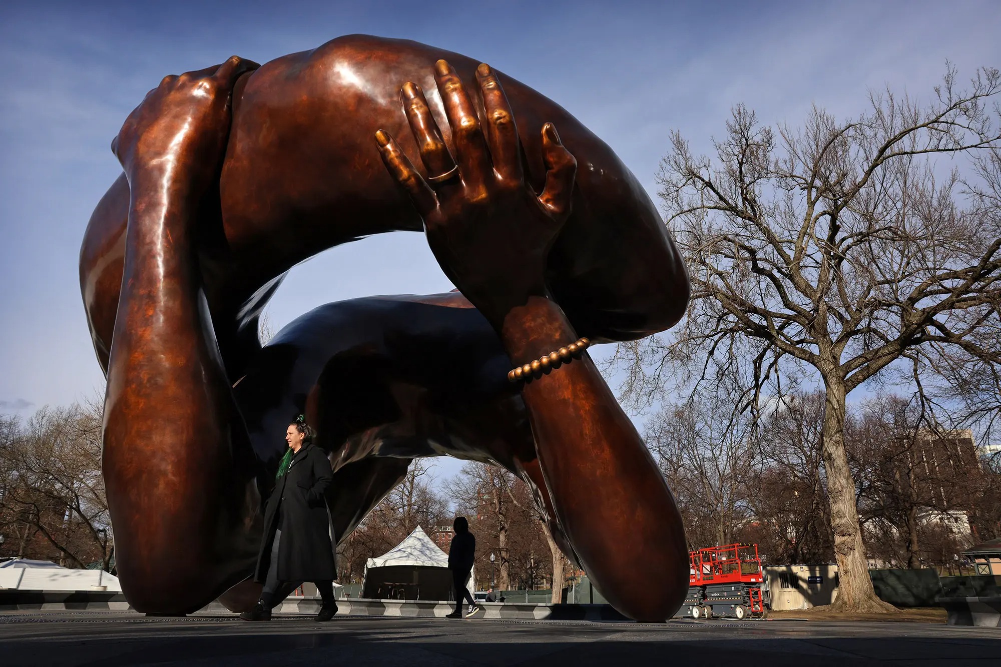
<svg viewBox="0 0 1001 667">
<path fill-rule="evenodd" d="M 571 212 L 577 160 L 556 127 L 543 128 L 547 167 L 542 193 L 522 169 L 522 146 L 500 82 L 481 64 L 476 79 L 485 110 L 485 136 L 455 71 L 435 64 L 435 80 L 455 147 L 453 157 L 420 88 L 406 82 L 400 97 L 427 177 L 389 134 L 375 133 L 389 173 L 423 218 L 427 243 L 441 269 L 490 322 L 499 327 L 512 308 L 546 296 L 546 259 Z"/>
</svg>

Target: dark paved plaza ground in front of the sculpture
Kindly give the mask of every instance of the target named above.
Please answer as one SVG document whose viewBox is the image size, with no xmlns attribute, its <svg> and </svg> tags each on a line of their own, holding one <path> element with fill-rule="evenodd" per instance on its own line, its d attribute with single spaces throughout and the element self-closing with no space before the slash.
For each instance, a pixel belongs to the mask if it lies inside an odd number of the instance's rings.
<svg viewBox="0 0 1001 667">
<path fill-rule="evenodd" d="M 505 621 L 0 614 L 3 665 L 1001 665 L 1001 630 L 815 621 Z"/>
</svg>

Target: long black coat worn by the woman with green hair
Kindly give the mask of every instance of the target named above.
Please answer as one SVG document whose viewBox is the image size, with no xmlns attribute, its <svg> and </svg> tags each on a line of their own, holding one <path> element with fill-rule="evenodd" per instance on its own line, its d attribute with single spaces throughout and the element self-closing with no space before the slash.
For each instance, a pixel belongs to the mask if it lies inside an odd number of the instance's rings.
<svg viewBox="0 0 1001 667">
<path fill-rule="evenodd" d="M 281 528 L 278 579 L 283 582 L 337 578 L 333 535 L 326 492 L 333 480 L 330 462 L 318 447 L 303 445 L 275 484 L 264 510 L 264 539 L 257 555 L 254 581 L 263 582 L 271 564 L 274 532 Z M 279 513 L 279 506 L 283 506 Z M 284 522 L 279 526 L 281 516 Z"/>
</svg>

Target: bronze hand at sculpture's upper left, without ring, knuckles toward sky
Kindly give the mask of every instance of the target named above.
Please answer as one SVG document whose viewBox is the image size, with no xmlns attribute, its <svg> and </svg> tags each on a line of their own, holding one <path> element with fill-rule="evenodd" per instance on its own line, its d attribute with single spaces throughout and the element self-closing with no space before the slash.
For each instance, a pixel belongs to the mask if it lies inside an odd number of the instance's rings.
<svg viewBox="0 0 1001 667">
<path fill-rule="evenodd" d="M 229 133 L 233 85 L 259 66 L 232 56 L 221 65 L 163 77 L 111 142 L 129 182 L 151 173 L 195 188 L 207 185 Z"/>
</svg>

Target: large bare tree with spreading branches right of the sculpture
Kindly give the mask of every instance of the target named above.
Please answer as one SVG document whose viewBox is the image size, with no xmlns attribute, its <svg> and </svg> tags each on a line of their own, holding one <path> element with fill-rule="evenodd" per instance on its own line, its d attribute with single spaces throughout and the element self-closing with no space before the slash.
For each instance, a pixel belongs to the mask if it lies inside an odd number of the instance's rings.
<svg viewBox="0 0 1001 667">
<path fill-rule="evenodd" d="M 814 108 L 802 130 L 774 132 L 738 106 L 715 161 L 675 132 L 662 162 L 660 195 L 693 298 L 673 339 L 623 353 L 655 379 L 681 369 L 678 382 L 697 379 L 707 357 L 746 363 L 752 407 L 788 367 L 820 376 L 839 610 L 892 610 L 868 576 L 847 396 L 898 360 L 924 373 L 1001 364 L 999 92 L 997 69 L 961 90 L 949 66 L 927 105 L 872 93 L 850 122 Z M 972 158 L 972 169 L 940 173 L 936 155 Z M 737 339 L 746 357 L 730 355 Z M 634 382 L 627 394 L 650 389 Z"/>
</svg>

